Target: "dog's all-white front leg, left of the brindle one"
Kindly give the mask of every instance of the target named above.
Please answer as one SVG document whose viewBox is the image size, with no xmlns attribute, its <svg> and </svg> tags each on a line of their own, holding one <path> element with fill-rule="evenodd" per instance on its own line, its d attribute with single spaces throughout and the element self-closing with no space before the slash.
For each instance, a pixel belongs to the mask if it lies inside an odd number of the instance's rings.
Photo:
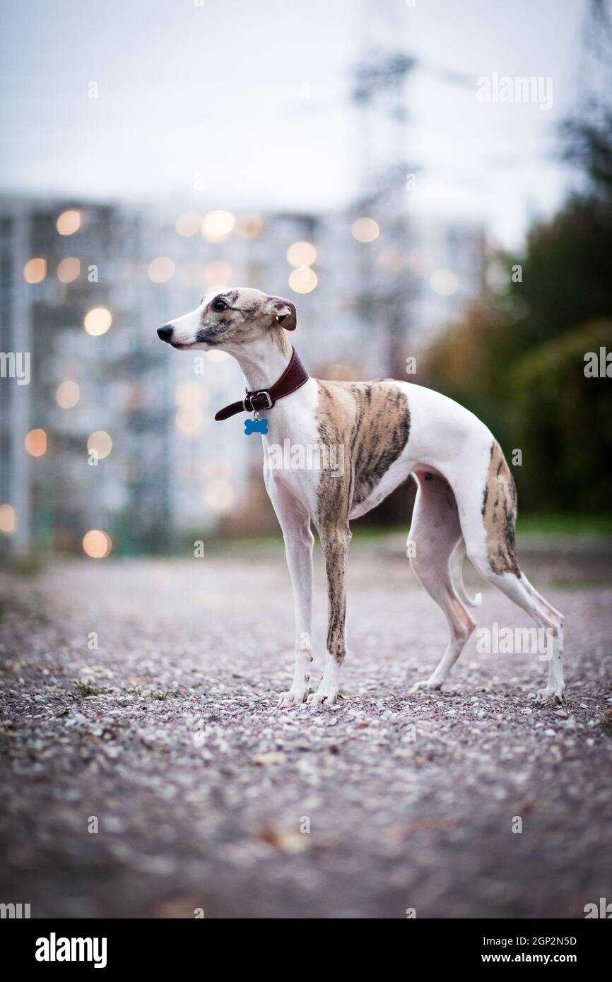
<svg viewBox="0 0 612 982">
<path fill-rule="evenodd" d="M 301 502 L 289 495 L 278 482 L 265 474 L 265 485 L 283 530 L 285 555 L 291 576 L 296 613 L 296 663 L 294 681 L 278 700 L 279 707 L 306 702 L 310 681 L 312 648 L 312 544 L 310 517 Z"/>
</svg>

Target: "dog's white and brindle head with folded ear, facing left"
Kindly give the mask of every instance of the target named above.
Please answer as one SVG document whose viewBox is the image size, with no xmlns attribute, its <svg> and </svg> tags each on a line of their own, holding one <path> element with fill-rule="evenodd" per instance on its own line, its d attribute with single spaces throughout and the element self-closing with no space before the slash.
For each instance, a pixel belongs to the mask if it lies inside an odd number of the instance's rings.
<svg viewBox="0 0 612 982">
<path fill-rule="evenodd" d="M 237 287 L 223 290 L 211 300 L 203 298 L 192 313 L 169 320 L 157 334 L 173 348 L 232 352 L 271 331 L 280 334 L 279 328 L 294 331 L 296 323 L 296 307 L 291 300 Z"/>
</svg>

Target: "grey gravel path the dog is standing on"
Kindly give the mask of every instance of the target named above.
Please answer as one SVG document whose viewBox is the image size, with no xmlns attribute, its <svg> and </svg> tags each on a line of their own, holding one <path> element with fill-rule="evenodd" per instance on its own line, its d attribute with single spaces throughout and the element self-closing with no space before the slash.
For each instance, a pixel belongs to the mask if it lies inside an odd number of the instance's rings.
<svg viewBox="0 0 612 982">
<path fill-rule="evenodd" d="M 543 589 L 549 571 L 526 569 Z M 478 654 L 474 638 L 447 692 L 414 696 L 443 619 L 406 560 L 356 547 L 346 697 L 313 711 L 276 709 L 293 648 L 280 550 L 0 586 L 1 901 L 62 917 L 582 917 L 612 900 L 610 589 L 546 587 L 566 614 L 565 706 L 534 703 L 536 656 Z M 529 627 L 486 588 L 476 614 Z"/>
</svg>

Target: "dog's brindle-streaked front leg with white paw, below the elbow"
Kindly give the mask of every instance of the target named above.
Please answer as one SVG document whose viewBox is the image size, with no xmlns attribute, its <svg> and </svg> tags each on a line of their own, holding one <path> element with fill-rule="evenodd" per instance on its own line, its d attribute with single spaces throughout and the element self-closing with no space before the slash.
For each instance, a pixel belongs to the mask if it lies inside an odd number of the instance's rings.
<svg viewBox="0 0 612 982">
<path fill-rule="evenodd" d="M 338 698 L 340 666 L 347 653 L 346 577 L 351 533 L 348 528 L 333 529 L 322 532 L 321 538 L 327 573 L 327 655 L 321 683 L 308 696 L 308 702 L 331 706 Z"/>
</svg>

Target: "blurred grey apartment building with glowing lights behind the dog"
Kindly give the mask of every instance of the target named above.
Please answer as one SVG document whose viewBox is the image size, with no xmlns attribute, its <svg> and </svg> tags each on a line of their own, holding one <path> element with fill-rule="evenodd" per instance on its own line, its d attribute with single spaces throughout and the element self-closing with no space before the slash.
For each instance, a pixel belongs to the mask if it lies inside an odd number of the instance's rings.
<svg viewBox="0 0 612 982">
<path fill-rule="evenodd" d="M 202 295 L 294 300 L 314 375 L 406 377 L 482 266 L 478 228 L 397 216 L 0 199 L 0 543 L 131 554 L 256 527 L 259 440 L 213 418 L 240 369 L 155 333 Z M 29 354 L 28 384 L 11 353 Z"/>
</svg>

